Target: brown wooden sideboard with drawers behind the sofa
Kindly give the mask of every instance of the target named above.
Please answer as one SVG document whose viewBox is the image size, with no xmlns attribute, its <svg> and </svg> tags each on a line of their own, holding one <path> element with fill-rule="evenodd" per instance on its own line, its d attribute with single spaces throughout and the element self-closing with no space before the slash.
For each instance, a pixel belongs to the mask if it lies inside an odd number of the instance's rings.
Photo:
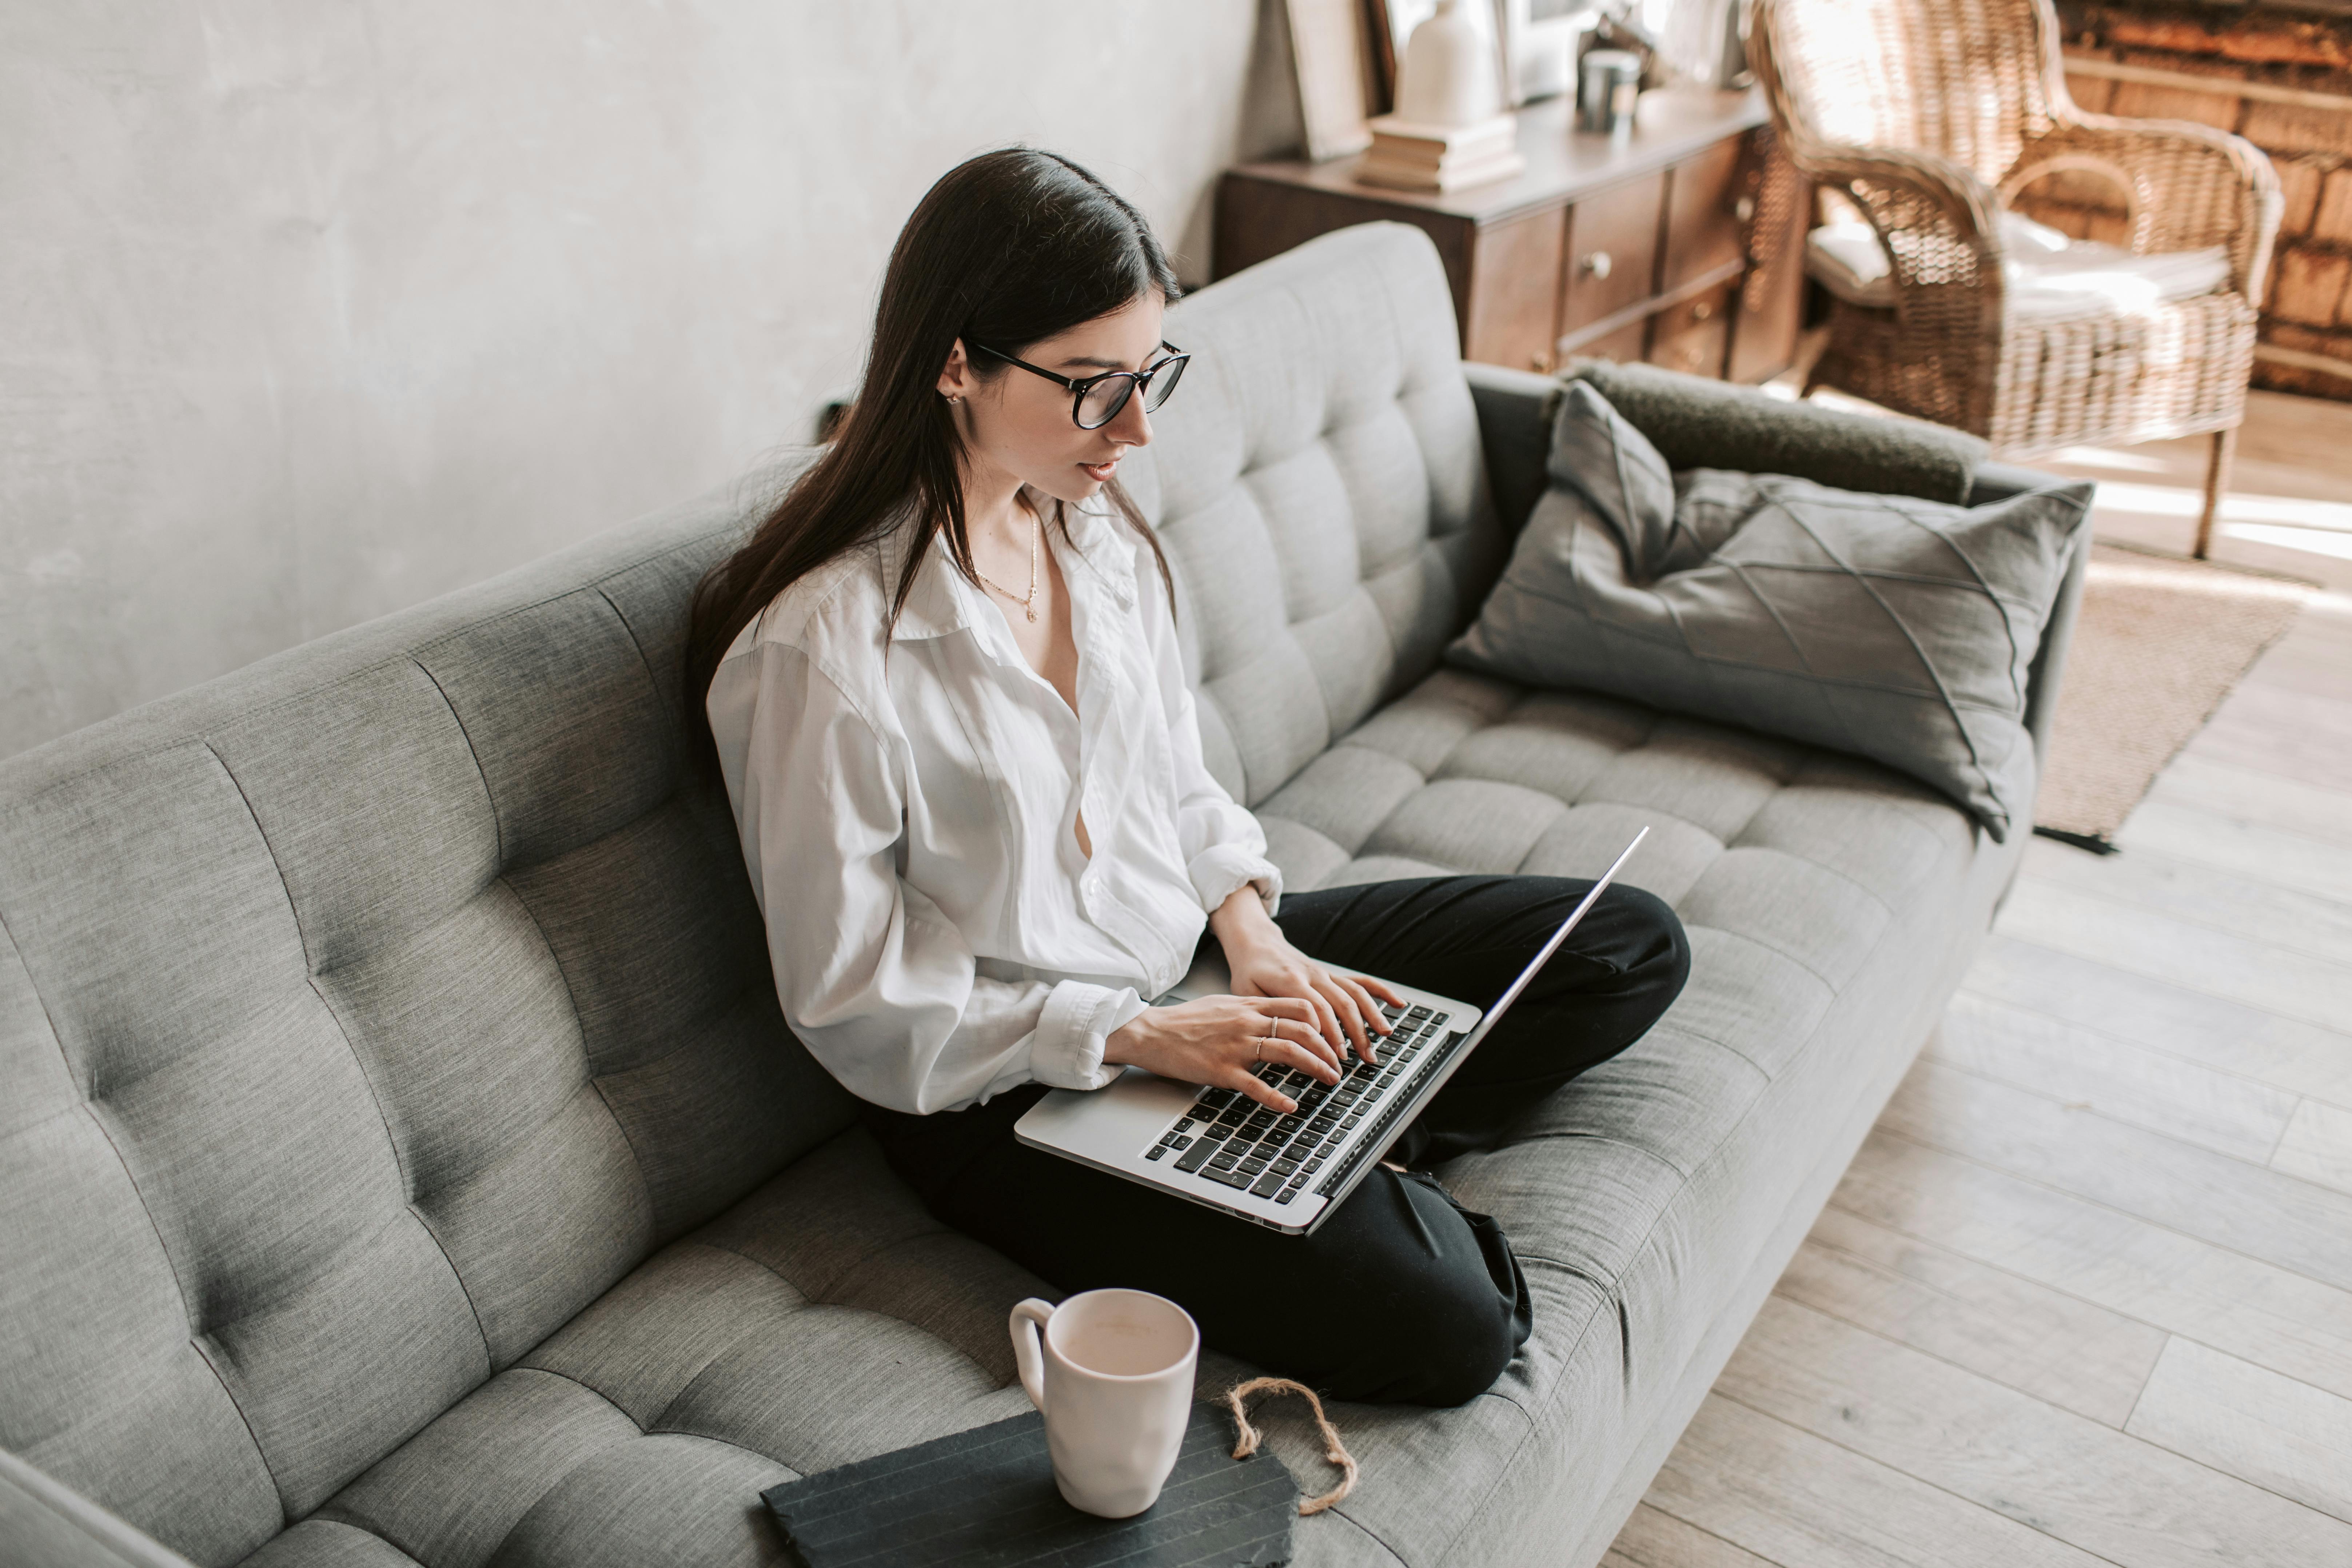
<svg viewBox="0 0 2352 1568">
<path fill-rule="evenodd" d="M 1762 381 L 1804 308 L 1806 190 L 1773 158 L 1755 92 L 1642 94 L 1623 136 L 1573 129 L 1566 99 L 1519 110 L 1526 172 L 1470 190 L 1383 190 L 1355 158 L 1256 162 L 1216 188 L 1216 275 L 1350 223 L 1437 242 L 1463 357 L 1550 371 L 1571 355 Z"/>
</svg>

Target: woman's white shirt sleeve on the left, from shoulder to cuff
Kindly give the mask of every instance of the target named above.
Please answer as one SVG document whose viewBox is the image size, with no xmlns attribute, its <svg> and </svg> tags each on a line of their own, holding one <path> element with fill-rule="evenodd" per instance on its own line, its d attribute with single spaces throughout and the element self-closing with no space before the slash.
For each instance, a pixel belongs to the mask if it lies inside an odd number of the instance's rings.
<svg viewBox="0 0 2352 1568">
<path fill-rule="evenodd" d="M 955 922 L 898 877 L 894 748 L 804 651 L 755 644 L 727 661 L 708 703 L 715 733 L 748 736 L 741 752 L 722 745 L 720 764 L 776 999 L 844 1088 L 929 1114 L 1025 1081 L 1117 1077 L 1103 1048 L 1143 1011 L 1134 987 L 976 971 Z"/>
</svg>

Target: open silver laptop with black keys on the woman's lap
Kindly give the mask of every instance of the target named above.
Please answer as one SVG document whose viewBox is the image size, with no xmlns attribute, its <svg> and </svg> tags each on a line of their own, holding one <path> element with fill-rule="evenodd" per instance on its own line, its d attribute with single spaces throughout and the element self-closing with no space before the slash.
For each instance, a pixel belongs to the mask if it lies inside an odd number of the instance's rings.
<svg viewBox="0 0 2352 1568">
<path fill-rule="evenodd" d="M 1632 835 L 1632 844 L 1484 1013 L 1390 980 L 1404 1006 L 1381 1006 L 1395 1032 L 1374 1034 L 1378 1065 L 1350 1056 L 1338 1086 L 1296 1067 L 1258 1067 L 1261 1081 L 1298 1103 L 1289 1117 L 1232 1088 L 1197 1088 L 1129 1067 L 1091 1093 L 1056 1088 L 1021 1117 L 1014 1135 L 1033 1150 L 1051 1150 L 1272 1229 L 1310 1232 L 1371 1175 L 1397 1133 L 1477 1051 L 1646 837 L 1649 827 Z M 1152 1004 L 1171 1006 L 1225 990 L 1225 961 L 1209 957 Z"/>
</svg>

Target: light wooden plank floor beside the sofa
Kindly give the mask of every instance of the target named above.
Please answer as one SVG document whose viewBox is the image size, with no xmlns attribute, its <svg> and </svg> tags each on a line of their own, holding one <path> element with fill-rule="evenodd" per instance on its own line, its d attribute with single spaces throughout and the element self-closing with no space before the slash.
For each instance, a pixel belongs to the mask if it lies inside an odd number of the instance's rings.
<svg viewBox="0 0 2352 1568">
<path fill-rule="evenodd" d="M 2074 451 L 2185 548 L 2204 442 Z M 1609 1568 L 2352 1568 L 2352 407 L 2216 555 L 2319 581 L 1983 959 Z"/>
</svg>

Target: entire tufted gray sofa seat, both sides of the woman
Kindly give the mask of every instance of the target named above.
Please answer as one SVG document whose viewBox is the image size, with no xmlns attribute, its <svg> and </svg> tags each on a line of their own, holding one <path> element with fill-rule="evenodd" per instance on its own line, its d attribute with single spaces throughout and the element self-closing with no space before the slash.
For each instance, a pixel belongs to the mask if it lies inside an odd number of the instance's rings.
<svg viewBox="0 0 2352 1568">
<path fill-rule="evenodd" d="M 1955 806 L 1875 764 L 1463 670 L 1357 726 L 1261 818 L 1301 889 L 1592 875 L 1649 823 L 1628 879 L 1691 933 L 1691 985 L 1646 1039 L 1442 1171 L 1526 1262 L 1524 1354 L 1458 1410 L 1336 1408 L 1367 1483 L 1303 1521 L 1301 1561 L 1477 1561 L 1522 1472 L 1564 1465 L 1578 1507 L 1613 1474 L 1602 1460 L 1630 1441 L 1616 1422 L 1679 1373 L 1797 1180 L 1757 1140 L 1820 1143 L 1870 1091 L 1853 1032 L 1825 1020 L 1933 990 L 1933 966 L 1893 950 L 1957 917 L 1980 844 Z M 783 1561 L 764 1486 L 1025 1408 L 1004 1333 L 1023 1295 L 1054 1291 L 941 1227 L 849 1131 L 249 1561 Z M 1242 1371 L 1211 1349 L 1200 1385 Z M 1319 1476 L 1291 1427 L 1277 1408 L 1277 1450 Z"/>
</svg>

